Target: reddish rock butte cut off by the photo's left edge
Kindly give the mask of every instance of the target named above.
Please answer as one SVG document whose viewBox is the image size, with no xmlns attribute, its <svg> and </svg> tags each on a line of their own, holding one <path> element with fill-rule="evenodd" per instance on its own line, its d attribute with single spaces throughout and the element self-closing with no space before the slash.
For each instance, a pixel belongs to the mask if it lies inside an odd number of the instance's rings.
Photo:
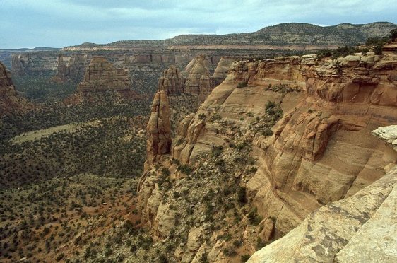
<svg viewBox="0 0 397 263">
<path fill-rule="evenodd" d="M 18 96 L 10 71 L 0 62 L 0 116 L 30 109 L 32 109 L 32 104 Z"/>
</svg>

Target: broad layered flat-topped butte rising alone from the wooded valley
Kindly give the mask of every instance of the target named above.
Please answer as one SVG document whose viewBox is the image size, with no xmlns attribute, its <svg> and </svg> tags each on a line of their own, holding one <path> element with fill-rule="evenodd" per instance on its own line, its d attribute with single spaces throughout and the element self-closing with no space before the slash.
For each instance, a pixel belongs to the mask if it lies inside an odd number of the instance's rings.
<svg viewBox="0 0 397 263">
<path fill-rule="evenodd" d="M 84 80 L 78 91 L 128 90 L 129 74 L 125 69 L 116 69 L 105 57 L 95 56 L 88 65 Z"/>
</svg>

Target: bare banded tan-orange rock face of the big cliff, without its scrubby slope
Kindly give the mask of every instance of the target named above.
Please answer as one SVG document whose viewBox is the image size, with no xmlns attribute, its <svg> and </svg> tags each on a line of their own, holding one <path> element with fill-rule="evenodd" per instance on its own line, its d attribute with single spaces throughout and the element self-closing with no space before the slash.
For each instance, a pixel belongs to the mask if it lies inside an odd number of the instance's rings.
<svg viewBox="0 0 397 263">
<path fill-rule="evenodd" d="M 235 62 L 226 80 L 178 129 L 172 156 L 194 165 L 211 146 L 225 146 L 219 116 L 249 137 L 249 118 L 281 102 L 284 117 L 273 136 L 253 139 L 258 171 L 247 182 L 249 199 L 263 218 L 272 216 L 275 237 L 298 226 L 311 211 L 350 197 L 384 175 L 395 160 L 372 129 L 397 122 L 396 57 L 369 55 L 314 63 L 315 56 Z M 316 65 L 317 64 L 317 65 Z M 342 66 L 340 66 L 342 65 Z M 241 81 L 247 88 L 236 88 Z M 273 92 L 288 84 L 302 92 Z M 200 117 L 201 116 L 201 117 Z M 189 124 L 187 124 L 189 122 Z"/>
</svg>

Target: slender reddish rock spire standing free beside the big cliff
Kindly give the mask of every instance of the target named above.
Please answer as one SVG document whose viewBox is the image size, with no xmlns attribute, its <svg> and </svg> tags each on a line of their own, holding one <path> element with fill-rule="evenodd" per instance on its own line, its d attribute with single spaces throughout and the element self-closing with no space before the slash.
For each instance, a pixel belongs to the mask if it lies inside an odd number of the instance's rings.
<svg viewBox="0 0 397 263">
<path fill-rule="evenodd" d="M 164 90 L 155 94 L 146 133 L 148 136 L 146 163 L 150 165 L 160 156 L 170 153 L 171 149 L 170 104 Z"/>
</svg>

